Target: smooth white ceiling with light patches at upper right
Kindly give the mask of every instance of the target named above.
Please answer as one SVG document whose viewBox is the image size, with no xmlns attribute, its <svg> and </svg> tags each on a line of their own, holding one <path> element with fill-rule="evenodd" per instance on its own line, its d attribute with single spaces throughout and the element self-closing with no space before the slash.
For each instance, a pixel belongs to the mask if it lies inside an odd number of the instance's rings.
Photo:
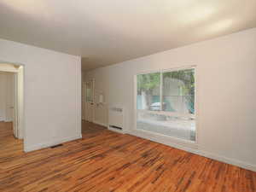
<svg viewBox="0 0 256 192">
<path fill-rule="evenodd" d="M 255 0 L 1 0 L 0 38 L 83 57 L 84 70 L 256 26 Z"/>
</svg>

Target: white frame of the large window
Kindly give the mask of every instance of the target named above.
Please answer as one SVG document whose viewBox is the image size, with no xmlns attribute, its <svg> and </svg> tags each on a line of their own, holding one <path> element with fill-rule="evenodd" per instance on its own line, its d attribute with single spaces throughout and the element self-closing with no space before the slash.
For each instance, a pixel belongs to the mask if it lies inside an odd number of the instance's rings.
<svg viewBox="0 0 256 192">
<path fill-rule="evenodd" d="M 141 130 L 137 129 L 137 111 L 138 110 L 143 110 L 143 109 L 137 109 L 137 75 L 141 74 L 148 74 L 148 73 L 160 73 L 160 103 L 162 105 L 162 76 L 163 73 L 168 73 L 168 72 L 173 72 L 173 71 L 180 71 L 180 70 L 186 70 L 186 69 L 194 69 L 195 70 L 195 113 L 193 114 L 193 118 L 195 118 L 195 141 L 191 140 L 186 140 L 183 138 L 178 138 L 178 137 L 172 137 L 172 136 L 166 136 L 154 131 L 146 131 L 146 130 Z M 162 108 L 162 107 L 161 107 Z M 140 73 L 136 73 L 134 75 L 134 131 L 137 133 L 137 135 L 147 135 L 149 137 L 165 137 L 171 143 L 176 144 L 181 144 L 184 146 L 189 146 L 191 148 L 198 148 L 198 136 L 199 136 L 199 106 L 198 106 L 198 75 L 197 75 L 197 66 L 196 65 L 189 65 L 189 66 L 183 66 L 183 67 L 172 67 L 172 68 L 164 68 L 164 69 L 158 69 L 158 70 L 149 70 L 149 71 L 143 71 Z M 154 113 L 154 111 L 153 111 Z M 166 112 L 160 110 L 158 113 L 163 113 L 163 114 L 170 114 L 172 112 Z M 178 115 L 178 113 L 173 113 L 174 115 Z M 186 116 L 185 114 L 181 114 L 181 116 Z M 189 117 L 191 115 L 188 115 Z M 147 138 L 147 137 L 145 137 Z M 151 139 L 151 140 L 157 140 L 157 139 Z M 157 141 L 159 143 L 162 143 L 161 141 Z"/>
</svg>

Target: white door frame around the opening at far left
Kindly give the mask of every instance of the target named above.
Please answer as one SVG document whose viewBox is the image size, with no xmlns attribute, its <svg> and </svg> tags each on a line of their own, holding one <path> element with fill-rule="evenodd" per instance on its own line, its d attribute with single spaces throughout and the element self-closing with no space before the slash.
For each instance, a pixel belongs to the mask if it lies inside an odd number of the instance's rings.
<svg viewBox="0 0 256 192">
<path fill-rule="evenodd" d="M 22 69 L 11 69 L 11 68 L 4 68 L 1 65 L 14 65 L 14 66 L 19 66 L 22 67 Z M 26 145 L 26 126 L 25 126 L 25 65 L 20 64 L 20 63 L 12 63 L 12 62 L 7 62 L 7 61 L 0 61 L 0 72 L 7 72 L 7 73 L 14 73 L 15 76 L 15 119 L 17 123 L 17 136 L 19 139 L 23 139 L 24 141 L 24 147 L 23 150 L 25 149 Z M 21 75 L 21 100 L 19 101 L 18 98 L 18 81 L 19 81 L 19 75 Z M 22 133 L 20 134 L 20 131 Z M 25 151 L 25 150 L 24 150 Z"/>
</svg>

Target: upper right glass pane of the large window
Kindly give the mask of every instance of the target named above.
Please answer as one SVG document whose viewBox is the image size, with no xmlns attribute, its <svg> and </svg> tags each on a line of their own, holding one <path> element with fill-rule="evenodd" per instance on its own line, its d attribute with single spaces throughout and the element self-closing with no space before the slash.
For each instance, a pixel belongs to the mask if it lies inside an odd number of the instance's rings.
<svg viewBox="0 0 256 192">
<path fill-rule="evenodd" d="M 195 113 L 195 69 L 163 73 L 163 110 Z"/>
</svg>

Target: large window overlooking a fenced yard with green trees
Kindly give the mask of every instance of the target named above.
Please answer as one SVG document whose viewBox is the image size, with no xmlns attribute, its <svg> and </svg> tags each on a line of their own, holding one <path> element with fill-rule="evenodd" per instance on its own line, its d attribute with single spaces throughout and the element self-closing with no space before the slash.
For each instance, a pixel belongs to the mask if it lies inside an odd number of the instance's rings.
<svg viewBox="0 0 256 192">
<path fill-rule="evenodd" d="M 195 141 L 195 69 L 137 75 L 137 129 Z"/>
</svg>

